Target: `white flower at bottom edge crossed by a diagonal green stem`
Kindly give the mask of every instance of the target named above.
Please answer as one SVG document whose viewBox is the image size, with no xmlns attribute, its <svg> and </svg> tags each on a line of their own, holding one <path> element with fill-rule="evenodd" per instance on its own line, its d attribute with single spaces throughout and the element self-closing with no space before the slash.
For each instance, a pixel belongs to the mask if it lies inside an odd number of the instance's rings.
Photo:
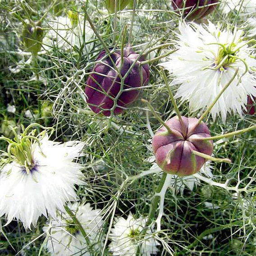
<svg viewBox="0 0 256 256">
<path fill-rule="evenodd" d="M 103 240 L 100 241 L 103 226 L 100 210 L 93 210 L 89 203 L 86 205 L 69 204 L 69 209 L 73 211 L 82 225 L 90 241 L 91 249 L 99 251 L 103 244 Z M 87 241 L 78 229 L 77 224 L 67 213 L 59 214 L 58 219 L 50 221 L 43 228 L 43 231 L 50 234 L 46 247 L 51 255 L 94 255 L 93 251 L 90 252 Z"/>
</svg>

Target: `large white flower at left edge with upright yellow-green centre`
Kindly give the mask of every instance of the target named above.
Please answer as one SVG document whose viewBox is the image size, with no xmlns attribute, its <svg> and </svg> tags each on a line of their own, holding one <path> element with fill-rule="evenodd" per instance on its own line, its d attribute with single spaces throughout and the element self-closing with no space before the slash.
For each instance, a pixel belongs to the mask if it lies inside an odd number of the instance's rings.
<svg viewBox="0 0 256 256">
<path fill-rule="evenodd" d="M 0 162 L 0 217 L 5 215 L 7 224 L 20 220 L 25 229 L 36 226 L 41 215 L 56 218 L 57 209 L 77 199 L 75 184 L 83 184 L 81 166 L 73 160 L 84 143 L 53 142 L 46 131 L 35 137 L 30 128 L 13 141 L 1 137 L 9 146 Z"/>
</svg>

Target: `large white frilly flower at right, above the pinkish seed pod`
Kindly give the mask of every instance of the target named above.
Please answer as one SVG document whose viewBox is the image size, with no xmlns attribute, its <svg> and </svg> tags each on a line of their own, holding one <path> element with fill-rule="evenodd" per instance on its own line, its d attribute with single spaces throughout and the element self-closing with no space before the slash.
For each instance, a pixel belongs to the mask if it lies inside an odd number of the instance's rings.
<svg viewBox="0 0 256 256">
<path fill-rule="evenodd" d="M 256 96 L 255 54 L 242 33 L 236 27 L 221 30 L 210 22 L 208 26 L 180 22 L 178 49 L 160 64 L 173 73 L 172 85 L 180 85 L 175 97 L 199 110 L 209 107 L 232 81 L 210 112 L 223 121 L 232 111 L 242 115 L 247 95 Z"/>
</svg>

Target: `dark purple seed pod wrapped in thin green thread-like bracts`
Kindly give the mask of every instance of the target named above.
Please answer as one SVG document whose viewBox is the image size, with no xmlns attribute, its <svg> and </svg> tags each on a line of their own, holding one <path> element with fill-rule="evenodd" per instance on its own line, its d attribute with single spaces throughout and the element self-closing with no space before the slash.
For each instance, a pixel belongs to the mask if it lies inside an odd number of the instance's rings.
<svg viewBox="0 0 256 256">
<path fill-rule="evenodd" d="M 122 113 L 125 107 L 136 100 L 139 94 L 137 87 L 146 85 L 149 80 L 149 65 L 140 65 L 145 60 L 144 57 L 141 56 L 136 61 L 139 55 L 131 48 L 123 49 L 123 64 L 121 63 L 120 50 L 111 53 L 110 56 L 122 77 L 129 71 L 124 80 L 123 88 L 121 78 L 105 51 L 102 51 L 98 56 L 97 63 L 87 79 L 85 87 L 87 103 L 91 110 L 105 116 L 110 116 L 110 109 L 114 106 L 114 101 L 117 102 L 114 114 Z M 130 69 L 132 64 L 134 65 Z"/>
</svg>

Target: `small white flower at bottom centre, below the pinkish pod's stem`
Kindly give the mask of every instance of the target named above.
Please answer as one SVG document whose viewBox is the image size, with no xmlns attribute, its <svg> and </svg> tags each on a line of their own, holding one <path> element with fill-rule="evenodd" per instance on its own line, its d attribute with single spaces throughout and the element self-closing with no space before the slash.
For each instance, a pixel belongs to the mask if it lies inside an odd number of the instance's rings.
<svg viewBox="0 0 256 256">
<path fill-rule="evenodd" d="M 123 217 L 117 219 L 114 228 L 111 229 L 109 245 L 113 256 L 134 256 L 137 250 L 140 250 L 140 255 L 151 256 L 156 254 L 159 245 L 150 229 L 147 229 L 146 234 L 142 234 L 142 229 L 146 225 L 146 219 L 142 216 L 134 219 L 130 213 L 127 219 Z"/>
</svg>

